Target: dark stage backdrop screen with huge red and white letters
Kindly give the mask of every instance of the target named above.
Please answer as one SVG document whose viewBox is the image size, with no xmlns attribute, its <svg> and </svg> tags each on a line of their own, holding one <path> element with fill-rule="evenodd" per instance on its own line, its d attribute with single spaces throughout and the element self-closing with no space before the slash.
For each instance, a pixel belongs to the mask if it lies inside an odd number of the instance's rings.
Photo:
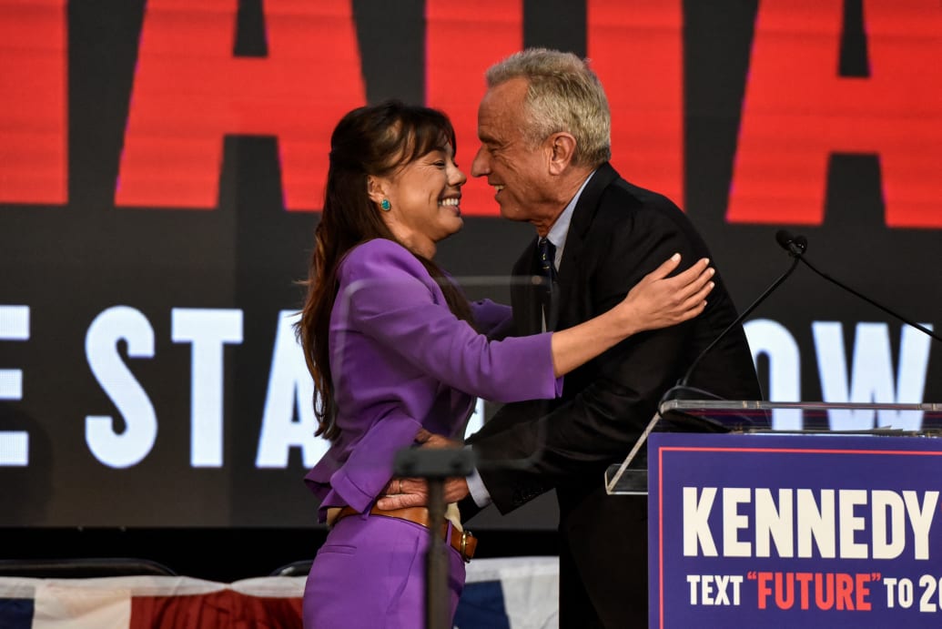
<svg viewBox="0 0 942 629">
<path fill-rule="evenodd" d="M 935 0 L 0 0 L 0 525 L 313 527 L 290 322 L 333 124 L 442 107 L 467 170 L 483 70 L 525 45 L 593 59 L 615 167 L 681 204 L 740 308 L 787 229 L 938 328 L 940 35 Z M 506 299 L 531 228 L 479 181 L 463 210 L 440 262 Z M 942 401 L 937 343 L 804 266 L 749 319 L 772 400 Z"/>
</svg>

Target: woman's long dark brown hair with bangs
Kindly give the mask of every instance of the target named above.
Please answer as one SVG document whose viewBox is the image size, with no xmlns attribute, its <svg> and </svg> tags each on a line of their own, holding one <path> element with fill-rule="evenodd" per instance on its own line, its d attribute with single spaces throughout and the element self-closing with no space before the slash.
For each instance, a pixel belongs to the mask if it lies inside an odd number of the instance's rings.
<svg viewBox="0 0 942 629">
<path fill-rule="evenodd" d="M 303 282 L 307 298 L 295 324 L 304 360 L 314 379 L 315 435 L 333 441 L 340 434 L 334 422 L 328 347 L 331 312 L 337 297 L 337 267 L 349 250 L 367 240 L 399 242 L 383 222 L 381 210 L 366 194 L 367 177 L 388 175 L 440 148 L 443 141 L 455 147 L 455 131 L 445 114 L 398 101 L 358 107 L 333 130 L 324 209 L 314 233 L 308 278 Z M 471 307 L 462 291 L 434 262 L 413 254 L 438 281 L 451 312 L 471 323 Z"/>
</svg>

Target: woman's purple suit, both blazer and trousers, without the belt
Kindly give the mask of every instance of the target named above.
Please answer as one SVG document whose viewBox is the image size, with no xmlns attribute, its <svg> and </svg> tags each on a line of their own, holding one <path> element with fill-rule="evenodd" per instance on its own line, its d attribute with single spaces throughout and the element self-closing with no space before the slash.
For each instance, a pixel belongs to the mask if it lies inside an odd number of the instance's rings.
<svg viewBox="0 0 942 629">
<path fill-rule="evenodd" d="M 489 341 L 510 309 L 473 304 L 474 331 L 447 308 L 438 283 L 414 255 L 376 239 L 341 263 L 331 316 L 336 422 L 341 436 L 304 480 L 331 507 L 366 511 L 392 477 L 398 450 L 420 427 L 454 436 L 476 396 L 498 402 L 560 395 L 550 333 Z M 333 527 L 304 592 L 304 621 L 316 627 L 423 626 L 423 556 L 417 524 L 352 516 Z M 451 549 L 452 611 L 464 566 Z"/>
</svg>

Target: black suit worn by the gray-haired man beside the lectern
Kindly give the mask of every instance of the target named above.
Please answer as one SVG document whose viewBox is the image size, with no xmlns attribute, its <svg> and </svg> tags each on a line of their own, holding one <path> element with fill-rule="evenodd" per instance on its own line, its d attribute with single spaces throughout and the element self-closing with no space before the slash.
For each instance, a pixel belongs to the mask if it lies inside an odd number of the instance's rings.
<svg viewBox="0 0 942 629">
<path fill-rule="evenodd" d="M 674 252 L 682 256 L 681 269 L 712 259 L 673 202 L 602 165 L 582 191 L 566 236 L 555 329 L 609 310 Z M 534 239 L 513 274 L 538 272 Z M 468 440 L 501 513 L 556 490 L 564 629 L 647 626 L 646 498 L 608 495 L 604 471 L 625 459 L 661 396 L 737 317 L 719 272 L 714 282 L 702 315 L 629 337 L 568 374 L 560 399 L 505 405 Z M 540 331 L 536 290 L 528 282 L 512 286 L 515 333 Z M 761 399 L 741 327 L 707 354 L 690 385 L 725 399 Z M 467 506 L 466 500 L 464 516 L 474 511 Z"/>
</svg>

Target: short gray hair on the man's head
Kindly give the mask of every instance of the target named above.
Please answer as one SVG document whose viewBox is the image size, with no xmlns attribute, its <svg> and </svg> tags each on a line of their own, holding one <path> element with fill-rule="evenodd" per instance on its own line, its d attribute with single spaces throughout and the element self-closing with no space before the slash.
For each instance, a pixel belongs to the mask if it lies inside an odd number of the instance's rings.
<svg viewBox="0 0 942 629">
<path fill-rule="evenodd" d="M 527 79 L 524 135 L 532 145 L 565 131 L 576 137 L 577 166 L 595 167 L 611 158 L 609 99 L 586 60 L 573 53 L 528 48 L 498 61 L 484 76 L 488 88 Z"/>
</svg>

